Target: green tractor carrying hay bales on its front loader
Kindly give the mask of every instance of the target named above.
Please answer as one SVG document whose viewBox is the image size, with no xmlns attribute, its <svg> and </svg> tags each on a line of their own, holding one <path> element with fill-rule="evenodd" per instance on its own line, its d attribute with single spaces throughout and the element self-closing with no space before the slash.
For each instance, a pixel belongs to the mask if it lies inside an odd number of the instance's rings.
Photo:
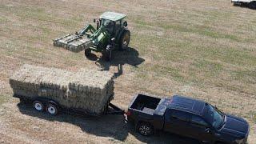
<svg viewBox="0 0 256 144">
<path fill-rule="evenodd" d="M 75 34 L 68 34 L 54 39 L 54 46 L 80 52 L 85 50 L 86 57 L 91 51 L 102 52 L 106 61 L 113 58 L 112 50 L 125 50 L 130 42 L 130 30 L 127 29 L 125 14 L 105 12 L 100 18 L 94 19 L 96 29 L 90 24 Z"/>
</svg>

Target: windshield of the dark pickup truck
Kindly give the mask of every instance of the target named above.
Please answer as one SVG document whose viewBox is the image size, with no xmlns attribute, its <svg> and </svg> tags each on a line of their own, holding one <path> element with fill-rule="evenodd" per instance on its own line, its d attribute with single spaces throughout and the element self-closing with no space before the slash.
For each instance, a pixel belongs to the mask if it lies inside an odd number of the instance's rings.
<svg viewBox="0 0 256 144">
<path fill-rule="evenodd" d="M 224 114 L 218 109 L 215 109 L 214 106 L 208 105 L 206 110 L 207 121 L 210 122 L 215 129 L 220 128 L 224 122 Z"/>
</svg>

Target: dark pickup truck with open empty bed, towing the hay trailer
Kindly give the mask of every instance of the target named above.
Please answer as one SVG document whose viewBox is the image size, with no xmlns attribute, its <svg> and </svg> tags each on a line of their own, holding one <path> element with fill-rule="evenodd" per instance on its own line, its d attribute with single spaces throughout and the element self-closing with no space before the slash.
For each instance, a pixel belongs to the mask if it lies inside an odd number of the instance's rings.
<svg viewBox="0 0 256 144">
<path fill-rule="evenodd" d="M 243 118 L 224 114 L 207 102 L 178 95 L 155 98 L 138 94 L 126 115 L 144 136 L 162 130 L 200 142 L 246 143 L 249 134 L 249 124 Z"/>
</svg>

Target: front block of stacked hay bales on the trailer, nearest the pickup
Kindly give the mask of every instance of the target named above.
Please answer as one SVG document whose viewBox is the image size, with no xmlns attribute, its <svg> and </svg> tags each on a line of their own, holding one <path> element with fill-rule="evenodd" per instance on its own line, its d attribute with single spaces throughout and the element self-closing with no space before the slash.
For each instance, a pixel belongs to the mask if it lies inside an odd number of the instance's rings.
<svg viewBox="0 0 256 144">
<path fill-rule="evenodd" d="M 68 96 L 77 99 L 72 104 L 91 109 L 93 113 L 102 113 L 113 95 L 114 81 L 107 71 L 82 69 L 74 74 L 69 83 Z"/>
</svg>

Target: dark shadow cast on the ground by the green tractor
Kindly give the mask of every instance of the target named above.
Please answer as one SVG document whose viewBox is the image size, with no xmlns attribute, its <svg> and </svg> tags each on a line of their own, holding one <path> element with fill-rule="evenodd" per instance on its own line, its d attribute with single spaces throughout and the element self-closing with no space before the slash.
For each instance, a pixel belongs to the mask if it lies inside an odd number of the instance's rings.
<svg viewBox="0 0 256 144">
<path fill-rule="evenodd" d="M 129 47 L 127 50 L 113 50 L 113 59 L 110 62 L 106 62 L 104 58 L 95 58 L 96 55 L 90 56 L 91 60 L 94 60 L 96 65 L 101 67 L 101 70 L 110 70 L 110 66 L 117 66 L 118 72 L 114 74 L 114 77 L 122 75 L 122 66 L 128 64 L 130 66 L 137 67 L 145 61 L 144 58 L 139 57 L 138 50 Z"/>
</svg>

